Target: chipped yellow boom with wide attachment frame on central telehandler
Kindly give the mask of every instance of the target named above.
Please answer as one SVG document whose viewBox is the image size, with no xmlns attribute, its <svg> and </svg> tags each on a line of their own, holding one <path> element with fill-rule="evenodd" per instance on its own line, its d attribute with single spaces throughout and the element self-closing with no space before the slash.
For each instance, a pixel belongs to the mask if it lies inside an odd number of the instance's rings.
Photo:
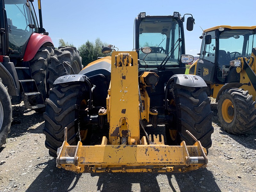
<svg viewBox="0 0 256 192">
<path fill-rule="evenodd" d="M 149 97 L 141 88 L 144 100 L 142 118 L 148 121 Z M 140 140 L 138 56 L 136 52 L 113 52 L 111 57 L 111 83 L 108 89 L 107 109 L 99 115 L 107 115 L 109 139 L 102 138 L 101 145 L 77 146 L 65 139 L 57 152 L 57 167 L 81 172 L 188 172 L 206 167 L 206 150 L 200 141 L 193 146 L 164 145 L 163 135 L 143 136 Z M 150 144 L 148 144 L 150 143 Z"/>
</svg>

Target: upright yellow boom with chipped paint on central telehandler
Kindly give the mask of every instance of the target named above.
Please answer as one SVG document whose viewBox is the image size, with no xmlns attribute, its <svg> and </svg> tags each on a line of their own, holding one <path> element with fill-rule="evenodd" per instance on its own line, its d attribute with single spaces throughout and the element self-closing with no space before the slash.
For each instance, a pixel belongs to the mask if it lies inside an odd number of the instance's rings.
<svg viewBox="0 0 256 192">
<path fill-rule="evenodd" d="M 138 55 L 137 52 L 113 52 L 111 59 L 109 144 L 119 145 L 124 132 L 128 144 L 137 145 L 140 143 Z"/>
</svg>

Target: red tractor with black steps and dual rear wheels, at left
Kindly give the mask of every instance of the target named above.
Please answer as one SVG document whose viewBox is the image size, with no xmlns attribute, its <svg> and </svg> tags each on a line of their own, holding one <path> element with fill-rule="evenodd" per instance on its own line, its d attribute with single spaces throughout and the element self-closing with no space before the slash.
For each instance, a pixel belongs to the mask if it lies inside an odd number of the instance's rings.
<svg viewBox="0 0 256 192">
<path fill-rule="evenodd" d="M 77 74 L 82 60 L 75 47 L 53 47 L 39 24 L 34 0 L 0 0 L 0 147 L 10 132 L 12 104 L 44 112 L 48 92 L 59 76 Z"/>
</svg>

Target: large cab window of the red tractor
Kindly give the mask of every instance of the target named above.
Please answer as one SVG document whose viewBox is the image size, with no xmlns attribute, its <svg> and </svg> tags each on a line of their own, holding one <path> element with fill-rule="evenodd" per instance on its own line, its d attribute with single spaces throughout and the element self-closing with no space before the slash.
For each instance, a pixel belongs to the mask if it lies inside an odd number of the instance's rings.
<svg viewBox="0 0 256 192">
<path fill-rule="evenodd" d="M 37 21 L 33 7 L 26 5 L 26 0 L 5 0 L 10 55 L 23 55 L 24 45 L 35 31 L 38 31 Z M 35 28 L 29 28 L 29 24 L 34 24 Z"/>
</svg>

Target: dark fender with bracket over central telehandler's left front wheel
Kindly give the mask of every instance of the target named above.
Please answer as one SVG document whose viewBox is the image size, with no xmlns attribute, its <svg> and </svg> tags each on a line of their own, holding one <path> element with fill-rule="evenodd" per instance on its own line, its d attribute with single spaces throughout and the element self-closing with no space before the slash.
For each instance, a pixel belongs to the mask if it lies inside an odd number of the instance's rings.
<svg viewBox="0 0 256 192">
<path fill-rule="evenodd" d="M 76 82 L 84 82 L 88 85 L 90 91 L 89 109 L 92 109 L 92 92 L 96 86 L 91 84 L 90 79 L 88 79 L 87 76 L 81 74 L 60 76 L 54 81 L 53 85 Z"/>
</svg>

